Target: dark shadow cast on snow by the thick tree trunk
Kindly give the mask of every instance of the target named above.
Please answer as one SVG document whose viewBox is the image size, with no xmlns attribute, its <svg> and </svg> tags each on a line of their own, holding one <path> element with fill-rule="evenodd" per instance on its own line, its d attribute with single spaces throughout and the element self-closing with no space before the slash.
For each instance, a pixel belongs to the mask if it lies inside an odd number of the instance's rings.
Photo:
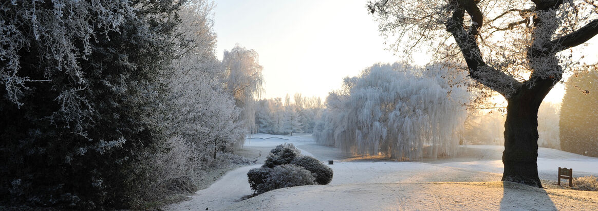
<svg viewBox="0 0 598 211">
<path fill-rule="evenodd" d="M 501 210 L 557 210 L 544 188 L 503 182 Z"/>
</svg>

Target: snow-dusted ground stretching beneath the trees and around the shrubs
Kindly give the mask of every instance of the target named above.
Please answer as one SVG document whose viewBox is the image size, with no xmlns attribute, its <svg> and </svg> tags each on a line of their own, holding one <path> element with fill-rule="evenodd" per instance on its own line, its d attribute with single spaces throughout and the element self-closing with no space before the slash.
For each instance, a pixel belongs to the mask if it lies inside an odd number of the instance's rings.
<svg viewBox="0 0 598 211">
<path fill-rule="evenodd" d="M 256 134 L 245 150 L 267 149 L 291 142 L 303 154 L 329 165 L 334 178 L 329 185 L 282 188 L 260 196 L 251 193 L 246 173 L 261 165 L 228 172 L 191 199 L 167 210 L 598 210 L 598 193 L 498 182 L 501 179 L 502 146 L 469 146 L 457 159 L 437 162 L 356 162 L 336 148 L 313 143 L 310 134 L 280 136 Z M 499 153 L 498 155 L 496 153 Z M 498 159 L 496 159 L 498 157 Z M 257 160 L 260 160 L 259 158 Z M 573 176 L 598 175 L 598 159 L 541 148 L 541 179 L 556 181 L 557 167 L 572 167 Z"/>
</svg>

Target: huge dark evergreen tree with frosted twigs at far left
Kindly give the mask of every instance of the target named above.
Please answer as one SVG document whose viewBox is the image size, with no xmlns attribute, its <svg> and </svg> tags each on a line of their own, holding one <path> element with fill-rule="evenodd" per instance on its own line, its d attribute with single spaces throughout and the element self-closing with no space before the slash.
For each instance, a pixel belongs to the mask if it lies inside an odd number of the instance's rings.
<svg viewBox="0 0 598 211">
<path fill-rule="evenodd" d="M 166 136 L 180 1 L 0 4 L 0 198 L 129 206 Z"/>
</svg>

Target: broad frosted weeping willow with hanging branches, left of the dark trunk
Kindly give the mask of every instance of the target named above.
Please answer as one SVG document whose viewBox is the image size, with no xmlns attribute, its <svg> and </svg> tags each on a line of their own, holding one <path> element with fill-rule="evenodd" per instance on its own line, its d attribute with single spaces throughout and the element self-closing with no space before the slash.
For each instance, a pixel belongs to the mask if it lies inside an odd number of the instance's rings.
<svg viewBox="0 0 598 211">
<path fill-rule="evenodd" d="M 376 64 L 345 78 L 343 89 L 327 98 L 316 141 L 396 160 L 453 156 L 469 98 L 465 88 L 451 87 L 437 74 L 447 71 Z"/>
</svg>

